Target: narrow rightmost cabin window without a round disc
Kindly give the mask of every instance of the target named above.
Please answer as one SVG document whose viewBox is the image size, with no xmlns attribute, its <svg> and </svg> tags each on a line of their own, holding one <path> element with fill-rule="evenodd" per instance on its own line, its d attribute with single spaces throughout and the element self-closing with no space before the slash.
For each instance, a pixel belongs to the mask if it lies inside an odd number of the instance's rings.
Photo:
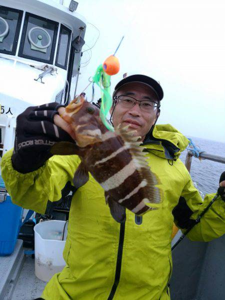
<svg viewBox="0 0 225 300">
<path fill-rule="evenodd" d="M 71 38 L 71 30 L 61 24 L 55 65 L 63 69 L 67 68 L 70 38 Z"/>
</svg>

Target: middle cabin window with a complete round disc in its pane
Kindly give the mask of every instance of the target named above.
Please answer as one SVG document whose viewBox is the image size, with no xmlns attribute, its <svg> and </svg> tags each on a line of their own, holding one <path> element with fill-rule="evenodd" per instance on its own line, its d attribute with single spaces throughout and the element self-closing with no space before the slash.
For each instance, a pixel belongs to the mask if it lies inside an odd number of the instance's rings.
<svg viewBox="0 0 225 300">
<path fill-rule="evenodd" d="M 18 55 L 53 63 L 58 23 L 26 13 Z"/>
</svg>

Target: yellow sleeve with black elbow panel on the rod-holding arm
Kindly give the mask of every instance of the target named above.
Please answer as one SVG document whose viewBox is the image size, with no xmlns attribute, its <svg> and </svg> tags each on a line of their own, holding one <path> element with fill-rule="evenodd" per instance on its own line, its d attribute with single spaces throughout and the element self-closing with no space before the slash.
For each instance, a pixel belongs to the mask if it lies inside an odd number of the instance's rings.
<svg viewBox="0 0 225 300">
<path fill-rule="evenodd" d="M 205 195 L 202 200 L 198 190 L 194 187 L 191 177 L 188 179 L 172 213 L 175 224 L 183 231 L 195 223 L 195 219 L 211 201 L 215 193 Z M 201 217 L 187 237 L 195 241 L 209 241 L 225 233 L 225 202 L 220 196 L 212 203 L 207 212 Z"/>
</svg>

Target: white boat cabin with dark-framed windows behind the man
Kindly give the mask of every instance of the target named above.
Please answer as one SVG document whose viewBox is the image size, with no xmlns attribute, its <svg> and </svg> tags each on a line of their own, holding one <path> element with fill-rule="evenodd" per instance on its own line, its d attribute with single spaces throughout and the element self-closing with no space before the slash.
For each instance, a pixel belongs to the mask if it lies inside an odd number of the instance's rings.
<svg viewBox="0 0 225 300">
<path fill-rule="evenodd" d="M 1 153 L 13 146 L 8 130 L 16 115 L 31 105 L 68 103 L 76 92 L 86 21 L 61 2 L 0 2 Z"/>
</svg>

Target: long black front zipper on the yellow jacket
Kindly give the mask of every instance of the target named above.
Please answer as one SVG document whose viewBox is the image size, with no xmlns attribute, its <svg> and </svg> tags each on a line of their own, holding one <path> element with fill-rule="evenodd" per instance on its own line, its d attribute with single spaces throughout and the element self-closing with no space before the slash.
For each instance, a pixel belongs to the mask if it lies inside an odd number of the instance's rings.
<svg viewBox="0 0 225 300">
<path fill-rule="evenodd" d="M 120 223 L 120 231 L 119 231 L 119 244 L 118 244 L 118 252 L 117 252 L 117 260 L 115 267 L 115 279 L 112 285 L 110 294 L 107 300 L 112 300 L 116 291 L 116 288 L 119 283 L 120 271 L 121 271 L 121 262 L 122 262 L 122 249 L 123 249 L 123 241 L 124 241 L 124 233 L 125 233 L 125 222 Z"/>
</svg>

